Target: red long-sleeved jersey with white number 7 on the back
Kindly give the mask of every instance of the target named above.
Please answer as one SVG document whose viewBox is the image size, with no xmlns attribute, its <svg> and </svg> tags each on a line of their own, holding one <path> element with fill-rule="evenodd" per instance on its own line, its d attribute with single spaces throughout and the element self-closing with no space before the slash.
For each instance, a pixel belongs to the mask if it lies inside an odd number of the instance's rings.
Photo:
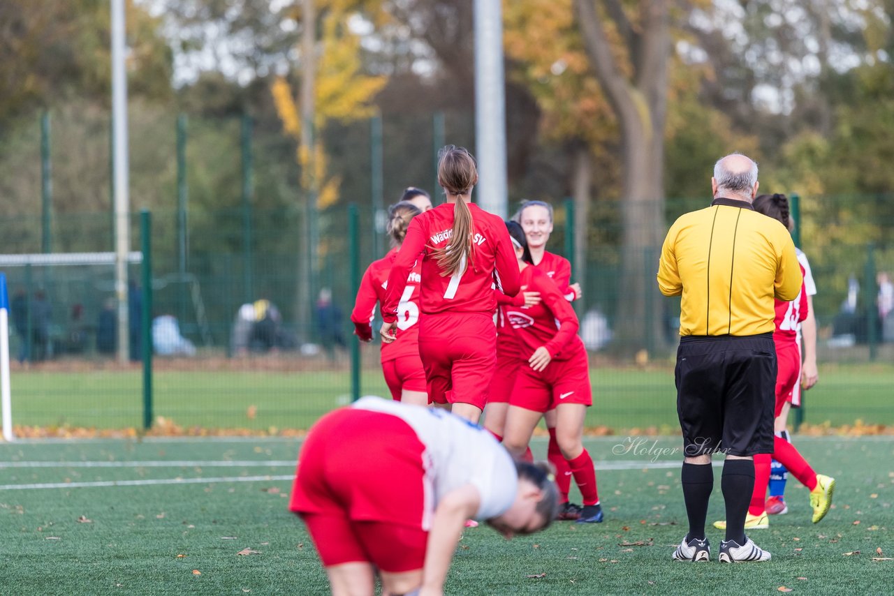
<svg viewBox="0 0 894 596">
<path fill-rule="evenodd" d="M 519 292 L 519 264 L 506 224 L 473 203 L 468 204 L 472 212 L 474 245 L 471 262 L 461 273 L 441 274 L 432 250 L 450 245 L 453 208 L 452 203 L 444 203 L 410 220 L 407 237 L 388 276 L 388 289 L 382 305 L 385 323 L 391 323 L 397 317 L 407 276 L 417 260 L 422 262 L 420 306 L 426 315 L 443 312 L 493 315 L 496 306 L 494 282 L 508 296 Z"/>
</svg>

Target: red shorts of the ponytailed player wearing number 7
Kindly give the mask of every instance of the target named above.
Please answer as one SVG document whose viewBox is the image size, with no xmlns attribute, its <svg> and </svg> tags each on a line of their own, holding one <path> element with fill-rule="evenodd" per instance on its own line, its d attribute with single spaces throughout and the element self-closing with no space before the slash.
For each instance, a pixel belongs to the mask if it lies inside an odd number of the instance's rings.
<svg viewBox="0 0 894 596">
<path fill-rule="evenodd" d="M 484 409 L 497 359 L 493 316 L 424 314 L 417 324 L 428 402 L 464 403 Z"/>
</svg>

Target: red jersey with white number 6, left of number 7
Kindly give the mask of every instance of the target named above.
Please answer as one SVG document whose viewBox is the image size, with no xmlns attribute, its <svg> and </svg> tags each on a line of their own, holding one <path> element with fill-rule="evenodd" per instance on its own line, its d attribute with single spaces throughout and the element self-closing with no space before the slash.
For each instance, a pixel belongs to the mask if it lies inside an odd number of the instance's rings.
<svg viewBox="0 0 894 596">
<path fill-rule="evenodd" d="M 369 323 L 375 316 L 375 303 L 384 301 L 388 274 L 391 273 L 397 255 L 398 249 L 392 249 L 383 258 L 369 264 L 367 272 L 363 274 L 357 301 L 350 314 L 350 320 L 357 328 L 360 338 L 366 339 L 373 335 Z M 419 282 L 422 279 L 419 272 L 420 267 L 417 264 L 407 276 L 407 284 L 401 292 L 401 301 L 397 307 L 397 337 L 401 340 L 382 343 L 383 362 L 408 354 L 417 356 L 419 353 L 419 327 L 416 324 L 419 319 Z"/>
</svg>

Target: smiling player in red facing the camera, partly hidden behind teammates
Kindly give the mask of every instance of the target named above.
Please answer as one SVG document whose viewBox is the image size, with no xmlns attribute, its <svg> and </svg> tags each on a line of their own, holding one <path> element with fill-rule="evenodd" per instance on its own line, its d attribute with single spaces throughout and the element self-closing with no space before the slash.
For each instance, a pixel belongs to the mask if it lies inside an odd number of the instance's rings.
<svg viewBox="0 0 894 596">
<path fill-rule="evenodd" d="M 546 273 L 559 287 L 562 295 L 569 302 L 583 296 L 580 284 L 571 283 L 571 264 L 568 259 L 562 258 L 546 250 L 552 234 L 552 205 L 545 201 L 525 201 L 519 207 L 519 211 L 513 219 L 521 224 L 527 239 L 527 248 L 531 252 L 532 263 L 537 269 Z M 565 458 L 561 455 L 559 443 L 556 441 L 556 416 L 550 410 L 544 415 L 546 430 L 550 433 L 547 453 L 550 462 L 556 466 L 556 479 L 559 483 L 559 496 L 564 501 L 560 519 L 578 519 L 580 507 L 568 500 L 568 491 L 571 488 L 571 474 Z"/>
</svg>

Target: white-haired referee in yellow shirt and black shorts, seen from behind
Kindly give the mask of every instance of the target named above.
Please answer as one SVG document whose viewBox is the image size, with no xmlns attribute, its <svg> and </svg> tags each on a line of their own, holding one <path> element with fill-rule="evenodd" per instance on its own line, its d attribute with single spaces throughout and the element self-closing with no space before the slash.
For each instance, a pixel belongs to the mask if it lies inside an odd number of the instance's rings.
<svg viewBox="0 0 894 596">
<path fill-rule="evenodd" d="M 773 298 L 794 300 L 802 280 L 789 231 L 751 206 L 757 187 L 755 162 L 739 154 L 721 158 L 711 206 L 674 222 L 658 264 L 662 293 L 682 295 L 674 376 L 689 532 L 673 554 L 681 561 L 710 560 L 704 521 L 716 452 L 726 455 L 720 560 L 770 559 L 746 537 L 745 517 L 755 483 L 752 456 L 773 449 Z"/>
</svg>

